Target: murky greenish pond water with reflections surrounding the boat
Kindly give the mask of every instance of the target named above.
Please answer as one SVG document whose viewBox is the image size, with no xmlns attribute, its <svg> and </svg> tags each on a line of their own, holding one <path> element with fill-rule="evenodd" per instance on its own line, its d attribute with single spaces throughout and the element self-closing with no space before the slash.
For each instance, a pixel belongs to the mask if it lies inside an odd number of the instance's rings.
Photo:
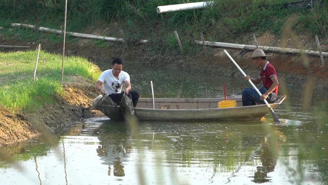
<svg viewBox="0 0 328 185">
<path fill-rule="evenodd" d="M 134 89 L 150 97 L 240 96 L 247 82 L 206 71 L 127 68 Z M 326 184 L 327 98 L 303 98 L 286 85 L 290 99 L 264 121 L 139 122 L 106 117 L 83 120 L 60 136 L 26 143 L 0 163 L 0 184 Z"/>
</svg>

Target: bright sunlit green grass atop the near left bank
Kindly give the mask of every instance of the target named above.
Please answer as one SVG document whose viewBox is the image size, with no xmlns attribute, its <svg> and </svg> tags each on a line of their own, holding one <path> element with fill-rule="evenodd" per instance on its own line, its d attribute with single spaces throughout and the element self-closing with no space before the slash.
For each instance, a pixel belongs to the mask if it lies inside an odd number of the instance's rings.
<svg viewBox="0 0 328 185">
<path fill-rule="evenodd" d="M 33 110 L 55 103 L 55 96 L 64 96 L 61 85 L 62 56 L 40 51 L 37 75 L 33 83 L 36 51 L 0 52 L 0 106 L 14 112 Z M 64 83 L 68 77 L 80 76 L 95 81 L 99 68 L 80 57 L 66 57 Z"/>
</svg>

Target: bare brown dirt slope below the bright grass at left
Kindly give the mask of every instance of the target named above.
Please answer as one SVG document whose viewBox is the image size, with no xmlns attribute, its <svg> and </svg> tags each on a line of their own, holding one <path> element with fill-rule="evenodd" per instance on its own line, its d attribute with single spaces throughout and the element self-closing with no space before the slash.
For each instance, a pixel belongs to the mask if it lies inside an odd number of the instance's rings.
<svg viewBox="0 0 328 185">
<path fill-rule="evenodd" d="M 96 96 L 93 84 L 72 76 L 65 84 L 65 96 L 54 95 L 56 103 L 33 112 L 22 110 L 13 114 L 0 107 L 0 146 L 32 139 L 40 134 L 64 133 L 82 118 L 81 107 L 90 106 Z M 78 82 L 78 83 L 77 83 Z M 85 117 L 100 115 L 92 110 Z"/>
</svg>

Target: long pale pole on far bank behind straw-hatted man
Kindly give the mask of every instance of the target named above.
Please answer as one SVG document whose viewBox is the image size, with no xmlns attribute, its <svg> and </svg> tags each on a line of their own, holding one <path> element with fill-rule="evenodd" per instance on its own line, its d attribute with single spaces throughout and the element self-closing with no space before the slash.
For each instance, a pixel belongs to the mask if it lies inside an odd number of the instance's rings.
<svg viewBox="0 0 328 185">
<path fill-rule="evenodd" d="M 202 45 L 202 41 L 195 41 L 197 44 Z M 207 46 L 219 47 L 219 48 L 230 48 L 230 49 L 246 49 L 246 50 L 255 50 L 256 46 L 254 45 L 245 45 L 245 44 L 232 44 L 232 43 L 222 43 L 222 42 L 210 42 L 204 41 Z M 304 49 L 294 49 L 294 48 L 281 48 L 281 47 L 271 47 L 271 46 L 258 46 L 258 48 L 267 52 L 274 52 L 280 54 L 300 54 L 305 53 L 312 57 L 320 57 L 319 51 L 313 50 L 304 50 Z M 322 52 L 323 57 L 328 58 L 328 52 Z"/>
</svg>

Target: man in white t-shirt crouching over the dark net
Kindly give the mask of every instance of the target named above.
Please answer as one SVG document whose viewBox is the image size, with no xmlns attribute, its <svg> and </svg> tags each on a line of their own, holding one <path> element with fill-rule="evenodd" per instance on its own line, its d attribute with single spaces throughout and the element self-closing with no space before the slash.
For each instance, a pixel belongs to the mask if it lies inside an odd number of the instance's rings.
<svg viewBox="0 0 328 185">
<path fill-rule="evenodd" d="M 112 69 L 105 70 L 101 73 L 95 88 L 102 94 L 106 94 L 117 104 L 121 101 L 123 94 L 127 94 L 133 102 L 133 106 L 137 106 L 139 93 L 131 90 L 130 76 L 127 72 L 122 71 L 123 61 L 120 58 L 114 58 L 112 61 Z M 126 88 L 122 90 L 122 84 L 125 83 Z"/>
</svg>

